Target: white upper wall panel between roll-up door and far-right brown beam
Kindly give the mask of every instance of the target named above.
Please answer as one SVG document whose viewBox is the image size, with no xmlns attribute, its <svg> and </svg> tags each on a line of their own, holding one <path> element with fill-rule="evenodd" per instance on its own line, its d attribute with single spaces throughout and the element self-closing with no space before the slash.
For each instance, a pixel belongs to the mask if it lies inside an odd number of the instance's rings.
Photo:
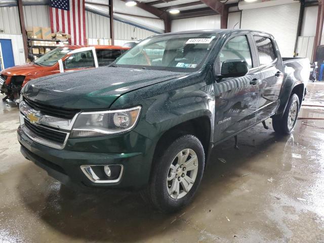
<svg viewBox="0 0 324 243">
<path fill-rule="evenodd" d="M 317 6 L 306 7 L 301 29 L 301 36 L 315 36 L 317 22 Z"/>
</svg>

